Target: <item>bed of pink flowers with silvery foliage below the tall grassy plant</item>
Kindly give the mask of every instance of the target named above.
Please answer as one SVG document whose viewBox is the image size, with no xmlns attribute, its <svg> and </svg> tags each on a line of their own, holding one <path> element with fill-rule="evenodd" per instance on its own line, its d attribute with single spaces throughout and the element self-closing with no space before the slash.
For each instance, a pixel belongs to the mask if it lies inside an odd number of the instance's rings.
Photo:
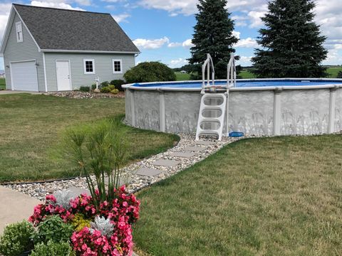
<svg viewBox="0 0 342 256">
<path fill-rule="evenodd" d="M 76 255 L 132 254 L 132 224 L 139 218 L 140 202 L 133 194 L 125 193 L 125 186 L 115 190 L 112 202 L 103 201 L 98 208 L 86 194 L 63 206 L 66 197 L 58 201 L 55 196 L 46 196 L 46 203 L 34 208 L 29 221 L 37 226 L 49 215 L 59 215 L 65 223 L 71 223 L 75 228 L 71 245 Z M 77 221 L 74 221 L 75 217 Z M 105 225 L 96 225 L 100 220 L 107 221 L 110 226 L 107 233 L 104 232 Z"/>
</svg>

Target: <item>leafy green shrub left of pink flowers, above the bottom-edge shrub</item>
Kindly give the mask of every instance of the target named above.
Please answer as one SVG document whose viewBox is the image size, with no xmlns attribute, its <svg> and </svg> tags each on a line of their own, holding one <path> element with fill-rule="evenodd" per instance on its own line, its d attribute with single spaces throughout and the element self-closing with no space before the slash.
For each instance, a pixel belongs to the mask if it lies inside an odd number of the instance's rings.
<svg viewBox="0 0 342 256">
<path fill-rule="evenodd" d="M 38 225 L 34 242 L 69 242 L 72 234 L 73 226 L 64 223 L 58 215 L 53 215 Z"/>
</svg>

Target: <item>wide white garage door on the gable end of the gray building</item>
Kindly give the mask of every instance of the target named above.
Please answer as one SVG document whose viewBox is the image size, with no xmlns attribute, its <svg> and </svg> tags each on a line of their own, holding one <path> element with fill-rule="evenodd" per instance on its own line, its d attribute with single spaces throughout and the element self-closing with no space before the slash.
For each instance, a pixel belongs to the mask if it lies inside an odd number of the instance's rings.
<svg viewBox="0 0 342 256">
<path fill-rule="evenodd" d="M 35 61 L 11 63 L 12 90 L 38 91 Z"/>
</svg>

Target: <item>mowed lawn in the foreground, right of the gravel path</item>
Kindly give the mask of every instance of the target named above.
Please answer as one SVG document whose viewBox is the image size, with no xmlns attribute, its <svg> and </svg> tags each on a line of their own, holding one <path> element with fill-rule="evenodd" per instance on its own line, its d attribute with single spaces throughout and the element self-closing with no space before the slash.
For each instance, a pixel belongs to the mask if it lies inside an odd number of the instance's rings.
<svg viewBox="0 0 342 256">
<path fill-rule="evenodd" d="M 341 255 L 342 136 L 245 139 L 138 193 L 150 255 Z"/>
</svg>

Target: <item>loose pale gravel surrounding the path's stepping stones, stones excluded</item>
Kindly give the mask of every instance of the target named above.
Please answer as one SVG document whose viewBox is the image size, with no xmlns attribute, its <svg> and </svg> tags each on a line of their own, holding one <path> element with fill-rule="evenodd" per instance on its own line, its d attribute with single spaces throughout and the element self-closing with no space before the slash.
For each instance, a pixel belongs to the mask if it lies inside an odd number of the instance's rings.
<svg viewBox="0 0 342 256">
<path fill-rule="evenodd" d="M 129 192 L 137 191 L 141 188 L 146 186 L 150 186 L 152 183 L 160 181 L 164 178 L 177 174 L 177 172 L 187 169 L 187 167 L 192 166 L 193 164 L 201 161 L 210 154 L 218 151 L 222 148 L 222 146 L 235 142 L 241 138 L 229 138 L 229 137 L 222 137 L 221 142 L 215 142 L 214 144 L 209 145 L 196 145 L 195 136 L 189 134 L 179 134 L 180 135 L 180 142 L 177 146 L 173 147 L 172 149 L 168 149 L 167 151 L 157 154 L 155 156 L 151 156 L 150 158 L 143 159 L 135 164 L 130 164 L 130 166 L 126 166 L 123 168 L 123 176 L 121 181 L 127 184 L 127 188 Z M 244 138 L 244 137 L 242 137 Z M 209 139 L 208 139 L 209 140 Z M 190 158 L 185 157 L 177 157 L 171 156 L 172 153 L 175 151 L 185 151 L 185 147 L 187 146 L 199 146 L 205 148 L 204 151 L 196 151 L 195 156 Z M 177 166 L 155 166 L 152 163 L 157 159 L 169 159 L 169 160 L 177 160 L 180 161 L 180 164 Z M 149 168 L 149 169 L 157 169 L 162 171 L 161 174 L 157 176 L 140 176 L 135 174 L 136 171 L 142 167 Z M 6 185 L 7 188 L 14 189 L 21 193 L 26 193 L 29 196 L 34 198 L 38 198 L 39 200 L 44 200 L 45 196 L 51 194 L 58 190 L 68 189 L 71 187 L 83 188 L 88 189 L 86 178 L 73 178 L 70 180 L 64 181 L 53 181 L 53 182 L 46 182 L 46 183 L 22 183 L 22 184 L 9 184 Z"/>
</svg>

